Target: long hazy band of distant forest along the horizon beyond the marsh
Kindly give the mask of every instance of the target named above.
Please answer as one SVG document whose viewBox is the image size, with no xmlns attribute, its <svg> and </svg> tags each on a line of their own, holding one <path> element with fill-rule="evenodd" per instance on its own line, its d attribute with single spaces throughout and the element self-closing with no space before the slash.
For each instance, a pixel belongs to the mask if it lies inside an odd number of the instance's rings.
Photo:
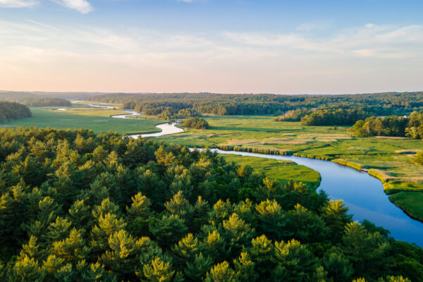
<svg viewBox="0 0 423 282">
<path fill-rule="evenodd" d="M 177 114 L 183 109 L 200 114 L 221 116 L 286 115 L 289 111 L 294 111 L 290 112 L 288 116 L 291 115 L 291 118 L 297 121 L 306 113 L 310 114 L 310 110 L 353 109 L 353 111 L 366 112 L 367 116 L 386 116 L 388 114 L 410 114 L 412 111 L 423 109 L 423 92 L 345 95 L 102 94 L 87 99 L 95 102 L 124 104 L 126 109 L 135 109 L 153 115 L 159 115 L 166 111 L 170 114 Z M 298 109 L 300 111 L 295 112 Z M 319 114 L 313 116 L 312 119 L 318 116 Z M 355 121 L 341 121 L 339 124 L 353 124 Z"/>
</svg>

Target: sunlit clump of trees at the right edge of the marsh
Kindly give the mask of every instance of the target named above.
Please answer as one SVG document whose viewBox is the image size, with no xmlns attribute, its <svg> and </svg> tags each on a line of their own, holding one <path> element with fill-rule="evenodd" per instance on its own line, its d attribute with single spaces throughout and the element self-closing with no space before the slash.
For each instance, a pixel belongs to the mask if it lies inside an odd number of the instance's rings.
<svg viewBox="0 0 423 282">
<path fill-rule="evenodd" d="M 358 137 L 396 136 L 423 139 L 423 111 L 414 111 L 410 117 L 405 116 L 371 116 L 360 120 L 351 129 Z"/>
</svg>

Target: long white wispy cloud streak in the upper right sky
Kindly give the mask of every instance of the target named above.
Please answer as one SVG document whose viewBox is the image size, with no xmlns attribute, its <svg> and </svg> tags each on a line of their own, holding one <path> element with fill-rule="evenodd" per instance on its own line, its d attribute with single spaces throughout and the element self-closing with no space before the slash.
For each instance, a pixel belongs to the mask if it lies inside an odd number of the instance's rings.
<svg viewBox="0 0 423 282">
<path fill-rule="evenodd" d="M 402 59 L 423 55 L 423 25 L 352 27 L 316 39 L 298 33 L 223 32 L 238 45 L 268 49 L 324 52 L 362 57 Z"/>
</svg>

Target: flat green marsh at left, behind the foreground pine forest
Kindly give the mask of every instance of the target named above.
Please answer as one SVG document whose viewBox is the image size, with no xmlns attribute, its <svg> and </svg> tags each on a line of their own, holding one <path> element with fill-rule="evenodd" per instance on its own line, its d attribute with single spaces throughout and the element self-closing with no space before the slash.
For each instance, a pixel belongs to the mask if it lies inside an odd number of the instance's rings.
<svg viewBox="0 0 423 282">
<path fill-rule="evenodd" d="M 111 118 L 117 114 L 125 114 L 114 109 L 81 109 L 68 108 L 67 111 L 56 111 L 57 108 L 31 108 L 32 117 L 8 122 L 1 126 L 36 126 L 37 128 L 75 129 L 87 128 L 94 133 L 116 131 L 117 133 L 155 133 L 160 130 L 156 125 L 163 123 L 158 119 L 135 120 L 130 118 Z"/>
</svg>

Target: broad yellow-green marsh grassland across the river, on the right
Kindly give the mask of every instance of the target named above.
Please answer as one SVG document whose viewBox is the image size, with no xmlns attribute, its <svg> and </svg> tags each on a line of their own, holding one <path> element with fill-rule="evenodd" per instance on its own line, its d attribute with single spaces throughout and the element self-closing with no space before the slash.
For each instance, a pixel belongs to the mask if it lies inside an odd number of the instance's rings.
<svg viewBox="0 0 423 282">
<path fill-rule="evenodd" d="M 206 116 L 208 130 L 187 129 L 164 140 L 197 147 L 238 151 L 295 154 L 328 159 L 356 169 L 365 168 L 384 183 L 388 194 L 413 191 L 398 197 L 399 207 L 423 220 L 423 166 L 413 162 L 423 149 L 422 140 L 408 138 L 353 137 L 348 127 L 303 126 L 276 122 L 273 116 Z M 421 197 L 419 197 L 421 195 Z M 394 198 L 395 199 L 395 198 Z"/>
</svg>

